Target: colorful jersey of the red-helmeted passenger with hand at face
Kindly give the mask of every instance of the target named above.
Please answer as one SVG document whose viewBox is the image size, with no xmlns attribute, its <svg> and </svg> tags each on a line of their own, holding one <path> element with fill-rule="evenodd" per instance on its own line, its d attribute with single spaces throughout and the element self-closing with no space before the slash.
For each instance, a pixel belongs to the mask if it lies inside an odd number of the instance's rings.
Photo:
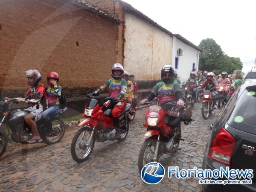
<svg viewBox="0 0 256 192">
<path fill-rule="evenodd" d="M 48 108 L 54 105 L 60 105 L 61 86 L 47 87 L 45 96 L 47 98 Z"/>
</svg>

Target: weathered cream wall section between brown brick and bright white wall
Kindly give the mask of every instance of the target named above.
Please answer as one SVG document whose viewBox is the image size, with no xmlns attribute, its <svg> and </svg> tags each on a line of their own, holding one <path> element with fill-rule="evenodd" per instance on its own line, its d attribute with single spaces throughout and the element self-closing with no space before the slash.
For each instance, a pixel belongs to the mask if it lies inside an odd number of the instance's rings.
<svg viewBox="0 0 256 192">
<path fill-rule="evenodd" d="M 125 14 L 124 68 L 136 80 L 160 79 L 161 68 L 172 63 L 172 37 L 140 18 Z"/>
</svg>

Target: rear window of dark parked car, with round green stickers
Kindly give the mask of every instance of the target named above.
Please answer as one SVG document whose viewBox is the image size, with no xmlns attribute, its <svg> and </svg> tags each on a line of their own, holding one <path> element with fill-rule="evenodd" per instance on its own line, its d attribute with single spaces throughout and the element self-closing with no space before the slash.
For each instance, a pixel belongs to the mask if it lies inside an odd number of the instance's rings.
<svg viewBox="0 0 256 192">
<path fill-rule="evenodd" d="M 241 93 L 227 123 L 241 131 L 256 134 L 256 87 Z"/>
</svg>

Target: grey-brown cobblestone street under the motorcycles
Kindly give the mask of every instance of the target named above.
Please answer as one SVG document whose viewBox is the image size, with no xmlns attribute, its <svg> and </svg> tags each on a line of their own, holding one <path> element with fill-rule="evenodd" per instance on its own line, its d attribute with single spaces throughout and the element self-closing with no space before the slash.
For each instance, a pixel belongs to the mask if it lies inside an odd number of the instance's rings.
<svg viewBox="0 0 256 192">
<path fill-rule="evenodd" d="M 201 168 L 205 146 L 210 134 L 209 125 L 219 110 L 209 119 L 201 115 L 201 103 L 192 108 L 190 125 L 182 123 L 181 151 L 165 154 L 160 163 L 180 166 L 180 169 Z M 69 128 L 63 140 L 54 145 L 18 145 L 0 158 L 0 191 L 199 191 L 196 179 L 168 179 L 167 174 L 157 185 L 145 184 L 138 172 L 138 154 L 144 141 L 143 128 L 147 108 L 137 111 L 130 123 L 128 137 L 123 142 L 95 143 L 89 159 L 76 163 L 70 154 L 73 135 L 78 128 Z"/>
</svg>

